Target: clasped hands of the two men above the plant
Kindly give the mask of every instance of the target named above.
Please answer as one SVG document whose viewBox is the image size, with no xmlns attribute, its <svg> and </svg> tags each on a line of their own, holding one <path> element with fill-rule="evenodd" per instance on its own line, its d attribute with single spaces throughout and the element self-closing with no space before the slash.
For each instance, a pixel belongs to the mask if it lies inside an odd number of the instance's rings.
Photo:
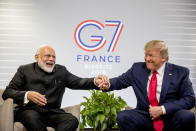
<svg viewBox="0 0 196 131">
<path fill-rule="evenodd" d="M 108 90 L 110 88 L 110 81 L 105 75 L 98 75 L 94 82 L 101 90 Z"/>
</svg>

